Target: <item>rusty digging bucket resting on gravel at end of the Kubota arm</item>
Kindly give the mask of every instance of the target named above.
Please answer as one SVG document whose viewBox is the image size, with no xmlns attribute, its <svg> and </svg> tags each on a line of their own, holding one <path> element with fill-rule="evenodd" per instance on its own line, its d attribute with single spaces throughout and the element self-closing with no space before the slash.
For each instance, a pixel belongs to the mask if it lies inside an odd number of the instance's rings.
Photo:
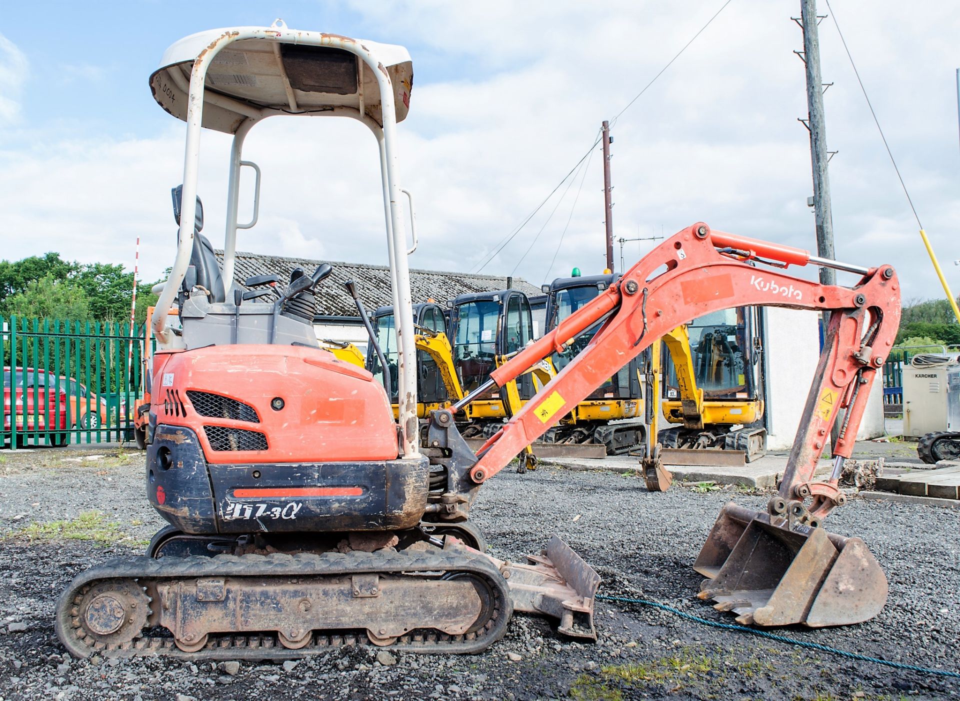
<svg viewBox="0 0 960 701">
<path fill-rule="evenodd" d="M 698 596 L 737 622 L 810 628 L 860 623 L 887 600 L 887 579 L 859 538 L 727 504 L 693 566 Z"/>
</svg>

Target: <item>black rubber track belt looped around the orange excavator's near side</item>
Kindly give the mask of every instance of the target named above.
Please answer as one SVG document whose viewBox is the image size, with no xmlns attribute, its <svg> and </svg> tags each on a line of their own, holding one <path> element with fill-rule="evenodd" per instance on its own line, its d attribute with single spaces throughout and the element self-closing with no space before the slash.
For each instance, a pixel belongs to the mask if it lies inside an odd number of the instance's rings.
<svg viewBox="0 0 960 701">
<path fill-rule="evenodd" d="M 217 555 L 114 558 L 78 574 L 57 601 L 55 628 L 60 641 L 77 658 L 100 654 L 104 657 L 163 656 L 182 659 L 223 660 L 292 660 L 324 654 L 331 646 L 366 644 L 363 631 L 329 631 L 314 633 L 314 640 L 297 650 L 283 647 L 276 632 L 210 634 L 207 644 L 197 652 L 183 652 L 174 644 L 172 634 L 164 637 L 134 638 L 122 646 L 93 647 L 78 638 L 70 611 L 74 597 L 99 580 L 130 578 L 138 580 L 196 579 L 197 577 L 304 577 L 342 576 L 356 573 L 398 574 L 410 572 L 472 572 L 483 577 L 497 596 L 492 611 L 492 624 L 468 636 L 450 636 L 436 630 L 418 630 L 384 646 L 400 652 L 476 653 L 485 650 L 503 637 L 513 614 L 513 601 L 506 580 L 499 570 L 482 555 L 461 548 L 428 552 L 350 552 L 300 553 L 288 555 Z M 435 577 L 431 577 L 435 579 Z M 426 628 L 426 627 L 425 627 Z M 372 643 L 369 643 L 372 644 Z"/>
</svg>

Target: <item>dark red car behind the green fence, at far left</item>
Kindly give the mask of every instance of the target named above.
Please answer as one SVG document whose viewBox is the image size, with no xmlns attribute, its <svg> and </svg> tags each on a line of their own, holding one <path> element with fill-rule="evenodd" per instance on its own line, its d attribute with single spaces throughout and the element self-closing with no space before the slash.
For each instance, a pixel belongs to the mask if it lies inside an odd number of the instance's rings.
<svg viewBox="0 0 960 701">
<path fill-rule="evenodd" d="M 31 368 L 26 370 L 16 368 L 13 373 L 11 373 L 9 367 L 3 369 L 4 443 L 10 440 L 12 435 L 11 418 L 15 414 L 18 445 L 25 443 L 21 431 L 26 431 L 27 437 L 36 437 L 37 443 L 41 443 L 44 438 L 49 437 L 53 446 L 65 446 L 67 444 L 69 434 L 55 432 L 66 430 L 68 427 L 66 392 L 65 389 L 60 390 L 60 400 L 58 402 L 57 393 L 47 391 L 47 381 L 52 384 L 52 375 L 37 371 L 35 382 L 34 371 Z M 13 386 L 16 387 L 16 401 L 11 408 Z M 36 433 L 34 433 L 35 431 Z"/>
</svg>

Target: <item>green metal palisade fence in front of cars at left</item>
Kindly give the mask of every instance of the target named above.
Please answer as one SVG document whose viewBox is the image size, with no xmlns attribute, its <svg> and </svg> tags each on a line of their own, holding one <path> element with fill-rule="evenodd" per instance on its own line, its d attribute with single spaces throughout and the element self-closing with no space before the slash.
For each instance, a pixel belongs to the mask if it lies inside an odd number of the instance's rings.
<svg viewBox="0 0 960 701">
<path fill-rule="evenodd" d="M 0 317 L 0 447 L 131 440 L 145 329 Z"/>
</svg>

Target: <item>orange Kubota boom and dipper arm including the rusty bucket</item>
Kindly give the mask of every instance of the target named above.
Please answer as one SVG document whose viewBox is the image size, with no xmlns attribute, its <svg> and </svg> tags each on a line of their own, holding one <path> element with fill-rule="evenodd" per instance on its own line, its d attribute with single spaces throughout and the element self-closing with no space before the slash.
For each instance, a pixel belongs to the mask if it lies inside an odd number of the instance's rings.
<svg viewBox="0 0 960 701">
<path fill-rule="evenodd" d="M 782 272 L 810 263 L 862 278 L 848 288 Z M 825 534 L 821 526 L 846 500 L 837 486 L 843 462 L 851 456 L 876 373 L 900 324 L 900 286 L 889 265 L 867 269 L 822 260 L 800 249 L 712 231 L 703 223 L 678 232 L 492 372 L 491 382 L 502 386 L 602 323 L 587 348 L 481 447 L 469 477 L 477 484 L 490 479 L 520 447 L 670 329 L 745 304 L 828 311 L 829 325 L 779 494 L 767 513 L 733 504 L 724 509 L 695 566 L 708 577 L 701 597 L 736 612 L 742 622 L 762 625 L 867 620 L 886 601 L 886 578 L 860 539 Z M 817 462 L 841 408 L 847 413 L 833 449 L 833 470 L 828 479 L 817 479 Z"/>
</svg>

